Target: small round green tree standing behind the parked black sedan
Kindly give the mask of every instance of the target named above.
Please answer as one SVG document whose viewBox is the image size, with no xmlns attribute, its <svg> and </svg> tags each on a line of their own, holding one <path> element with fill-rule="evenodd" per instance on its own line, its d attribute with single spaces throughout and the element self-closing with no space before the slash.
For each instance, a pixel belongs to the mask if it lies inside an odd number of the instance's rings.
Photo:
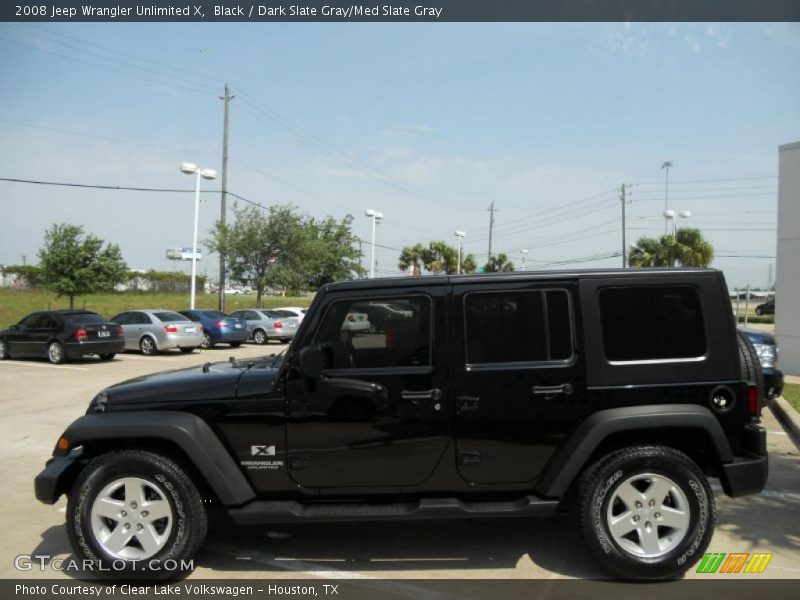
<svg viewBox="0 0 800 600">
<path fill-rule="evenodd" d="M 75 296 L 112 290 L 127 274 L 119 246 L 67 223 L 45 232 L 39 266 L 41 282 L 57 297 L 67 296 L 70 308 L 75 307 Z"/>
</svg>

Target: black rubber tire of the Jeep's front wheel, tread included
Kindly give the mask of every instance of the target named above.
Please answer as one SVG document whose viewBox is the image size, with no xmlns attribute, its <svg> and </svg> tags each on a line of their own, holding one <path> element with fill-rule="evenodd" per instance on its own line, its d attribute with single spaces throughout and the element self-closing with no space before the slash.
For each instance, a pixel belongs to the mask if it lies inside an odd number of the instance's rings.
<svg viewBox="0 0 800 600">
<path fill-rule="evenodd" d="M 150 556 L 115 556 L 94 533 L 92 510 L 95 500 L 104 489 L 108 489 L 107 486 L 124 478 L 144 480 L 155 486 L 163 493 L 163 497 L 156 496 L 156 499 L 165 499 L 169 504 L 169 534 L 163 534 L 166 536 L 163 545 Z M 127 500 L 126 495 L 121 501 L 123 508 L 128 507 Z M 135 509 L 134 505 L 130 515 L 120 517 L 112 534 L 116 527 L 123 526 L 122 519 L 137 523 L 137 518 L 145 514 L 142 507 L 139 507 L 139 513 Z M 99 573 L 115 579 L 172 579 L 185 573 L 185 569 L 180 570 L 181 561 L 190 561 L 195 556 L 205 539 L 207 526 L 203 499 L 191 478 L 172 459 L 145 450 L 122 450 L 94 458 L 81 472 L 67 502 L 67 533 L 75 553 L 81 559 L 98 561 L 101 566 Z M 125 550 L 138 552 L 139 549 L 144 551 L 144 546 L 133 534 Z M 151 561 L 160 561 L 160 569 L 147 570 Z M 171 561 L 177 561 L 175 569 L 171 569 Z"/>
</svg>

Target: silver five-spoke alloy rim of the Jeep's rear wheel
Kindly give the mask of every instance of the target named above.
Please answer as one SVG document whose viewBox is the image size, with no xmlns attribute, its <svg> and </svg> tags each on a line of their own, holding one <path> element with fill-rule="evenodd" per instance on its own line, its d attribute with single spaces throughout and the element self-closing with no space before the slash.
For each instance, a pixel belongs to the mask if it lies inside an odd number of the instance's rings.
<svg viewBox="0 0 800 600">
<path fill-rule="evenodd" d="M 625 552 L 641 558 L 667 554 L 689 530 L 686 494 L 661 474 L 640 473 L 614 490 L 606 510 L 608 531 Z"/>
</svg>

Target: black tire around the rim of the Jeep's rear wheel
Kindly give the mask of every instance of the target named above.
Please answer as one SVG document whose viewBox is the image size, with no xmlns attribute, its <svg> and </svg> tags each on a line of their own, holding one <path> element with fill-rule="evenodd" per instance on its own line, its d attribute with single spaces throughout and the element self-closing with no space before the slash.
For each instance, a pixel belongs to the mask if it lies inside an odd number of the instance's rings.
<svg viewBox="0 0 800 600">
<path fill-rule="evenodd" d="M 687 459 L 688 460 L 688 459 Z M 628 478 L 642 473 L 663 475 L 686 495 L 690 507 L 688 531 L 669 553 L 656 558 L 640 558 L 623 550 L 608 529 L 608 504 L 614 492 Z M 708 480 L 684 461 L 651 454 L 610 460 L 588 496 L 588 515 L 584 511 L 584 532 L 590 549 L 616 573 L 634 579 L 674 578 L 682 575 L 703 554 L 714 528 L 713 496 Z"/>
</svg>

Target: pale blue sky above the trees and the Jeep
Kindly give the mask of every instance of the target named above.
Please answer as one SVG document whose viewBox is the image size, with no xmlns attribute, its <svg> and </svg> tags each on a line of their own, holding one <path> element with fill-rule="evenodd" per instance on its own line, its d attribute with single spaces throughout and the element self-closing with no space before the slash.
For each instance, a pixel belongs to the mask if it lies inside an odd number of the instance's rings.
<svg viewBox="0 0 800 600">
<path fill-rule="evenodd" d="M 0 177 L 189 189 L 180 161 L 220 167 L 227 81 L 230 191 L 351 213 L 364 239 L 376 208 L 396 249 L 462 229 L 479 261 L 494 201 L 493 251 L 529 249 L 529 268 L 618 266 L 574 261 L 620 251 L 622 183 L 628 240 L 663 233 L 670 160 L 670 207 L 714 266 L 765 285 L 777 147 L 800 140 L 797 24 L 0 24 L 0 57 Z M 202 196 L 201 238 L 219 215 Z M 66 221 L 168 269 L 192 209 L 191 194 L 0 182 L 0 264 L 35 262 Z M 390 248 L 381 274 L 399 274 Z"/>
</svg>

